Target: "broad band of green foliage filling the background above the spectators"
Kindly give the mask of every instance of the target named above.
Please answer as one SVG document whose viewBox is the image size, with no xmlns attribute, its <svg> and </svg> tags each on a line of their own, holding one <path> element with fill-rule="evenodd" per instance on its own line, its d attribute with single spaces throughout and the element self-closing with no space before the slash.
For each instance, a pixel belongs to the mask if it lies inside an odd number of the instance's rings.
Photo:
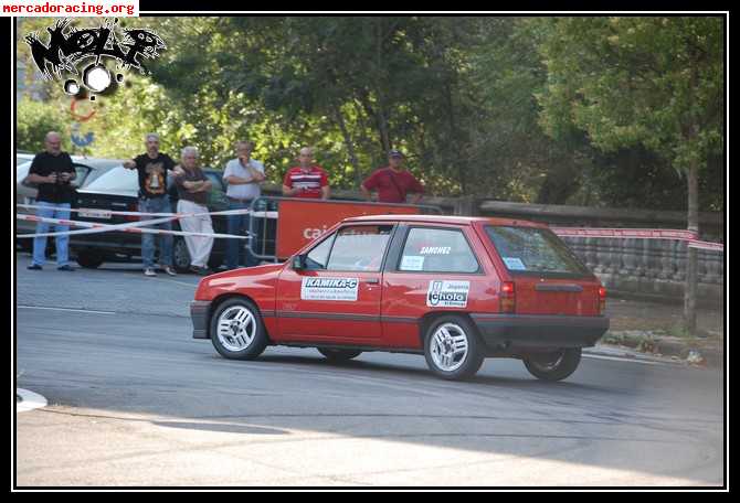
<svg viewBox="0 0 740 503">
<path fill-rule="evenodd" d="M 28 68 L 22 38 L 45 40 L 54 21 L 22 21 L 18 57 Z M 126 72 L 96 101 L 84 125 L 95 156 L 135 156 L 156 131 L 173 157 L 192 145 L 222 168 L 235 142 L 251 139 L 279 182 L 311 146 L 334 186 L 357 188 L 400 148 L 440 195 L 672 210 L 686 193 L 674 170 L 700 160 L 702 205 L 723 208 L 718 18 L 120 20 L 133 26 L 157 31 L 167 50 L 151 76 Z M 51 127 L 31 131 L 29 121 L 72 127 L 61 83 L 40 88 L 57 114 L 21 101 L 19 147 Z"/>
</svg>

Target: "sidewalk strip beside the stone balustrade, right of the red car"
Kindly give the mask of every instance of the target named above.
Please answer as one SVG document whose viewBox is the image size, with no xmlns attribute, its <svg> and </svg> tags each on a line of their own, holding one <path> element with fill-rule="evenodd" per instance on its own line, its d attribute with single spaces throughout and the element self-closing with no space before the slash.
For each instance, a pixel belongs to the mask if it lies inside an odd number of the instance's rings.
<svg viewBox="0 0 740 503">
<path fill-rule="evenodd" d="M 725 362 L 725 312 L 719 306 L 698 311 L 698 338 L 683 333 L 683 306 L 612 298 L 606 314 L 610 331 L 586 354 L 709 366 Z"/>
</svg>

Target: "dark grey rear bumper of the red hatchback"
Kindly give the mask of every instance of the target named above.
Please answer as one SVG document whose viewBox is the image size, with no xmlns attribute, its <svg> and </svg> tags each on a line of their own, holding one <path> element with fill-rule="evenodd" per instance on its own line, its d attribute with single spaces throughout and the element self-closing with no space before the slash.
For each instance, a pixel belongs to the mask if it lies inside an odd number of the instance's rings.
<svg viewBox="0 0 740 503">
<path fill-rule="evenodd" d="M 471 314 L 489 350 L 589 347 L 609 330 L 606 317 Z"/>
</svg>

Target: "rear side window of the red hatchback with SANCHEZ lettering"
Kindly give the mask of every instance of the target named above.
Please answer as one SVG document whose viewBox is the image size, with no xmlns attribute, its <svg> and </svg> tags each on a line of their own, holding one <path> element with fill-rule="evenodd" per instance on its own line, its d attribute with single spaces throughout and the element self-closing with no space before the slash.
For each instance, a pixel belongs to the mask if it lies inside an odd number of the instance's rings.
<svg viewBox="0 0 740 503">
<path fill-rule="evenodd" d="M 478 267 L 462 231 L 415 227 L 409 231 L 398 270 L 477 272 Z"/>
</svg>

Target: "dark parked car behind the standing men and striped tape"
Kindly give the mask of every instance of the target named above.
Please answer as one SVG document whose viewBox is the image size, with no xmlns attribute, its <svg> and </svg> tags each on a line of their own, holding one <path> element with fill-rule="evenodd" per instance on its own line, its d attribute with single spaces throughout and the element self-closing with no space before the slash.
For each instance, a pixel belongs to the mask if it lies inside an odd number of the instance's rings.
<svg viewBox="0 0 740 503">
<path fill-rule="evenodd" d="M 204 169 L 203 173 L 213 184 L 210 192 L 209 211 L 221 212 L 229 210 L 225 196 L 225 186 L 222 172 Z M 81 210 L 77 218 L 83 222 L 104 224 L 124 224 L 137 222 L 138 216 L 113 215 L 112 211 L 138 212 L 138 174 L 123 165 L 114 168 L 93 183 L 77 191 L 77 205 Z M 178 194 L 170 180 L 170 201 L 172 211 L 177 208 Z M 213 232 L 228 234 L 226 217 L 212 217 Z M 180 231 L 177 221 L 172 223 L 173 231 Z M 82 267 L 97 268 L 105 261 L 128 261 L 141 257 L 141 236 L 129 233 L 99 233 L 73 235 L 70 248 Z M 215 239 L 209 266 L 219 267 L 225 257 L 225 239 Z M 175 236 L 173 266 L 179 271 L 190 268 L 190 254 L 182 236 Z"/>
</svg>

